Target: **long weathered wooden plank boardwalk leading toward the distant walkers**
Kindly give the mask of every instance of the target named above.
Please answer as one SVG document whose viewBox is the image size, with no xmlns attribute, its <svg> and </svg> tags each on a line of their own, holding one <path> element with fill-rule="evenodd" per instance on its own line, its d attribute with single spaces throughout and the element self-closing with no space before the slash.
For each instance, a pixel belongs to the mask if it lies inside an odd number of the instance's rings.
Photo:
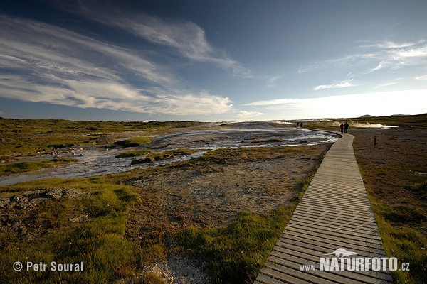
<svg viewBox="0 0 427 284">
<path fill-rule="evenodd" d="M 327 152 L 254 284 L 392 283 L 385 273 L 319 269 L 320 258 L 336 257 L 324 254 L 340 248 L 362 258 L 386 257 L 353 140 L 344 134 Z"/>
</svg>

